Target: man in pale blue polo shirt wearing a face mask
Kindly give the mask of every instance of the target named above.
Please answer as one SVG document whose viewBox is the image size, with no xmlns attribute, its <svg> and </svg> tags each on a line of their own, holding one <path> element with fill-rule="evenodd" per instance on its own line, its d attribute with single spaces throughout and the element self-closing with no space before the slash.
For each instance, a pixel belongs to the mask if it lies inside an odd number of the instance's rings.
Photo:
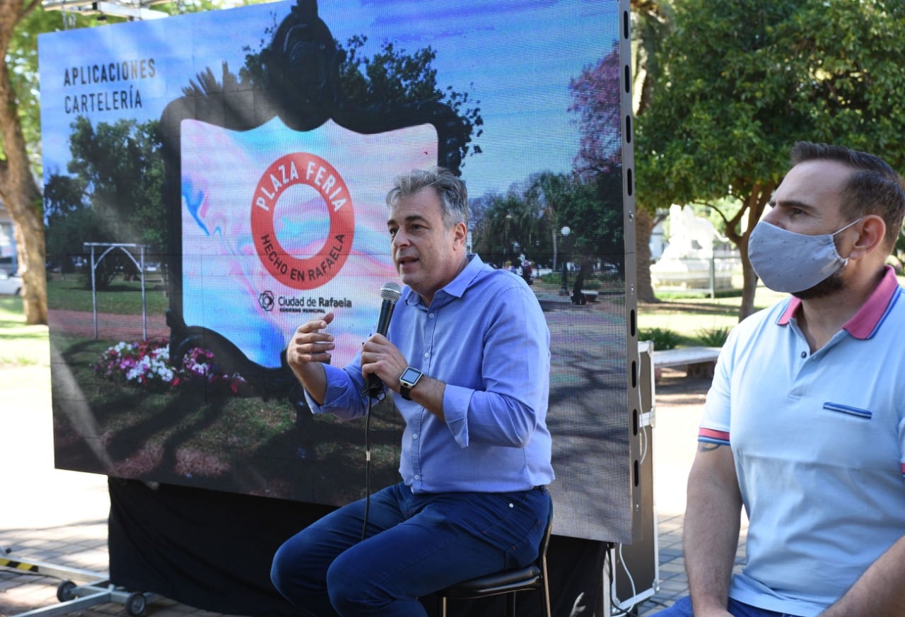
<svg viewBox="0 0 905 617">
<path fill-rule="evenodd" d="M 748 246 L 792 295 L 723 346 L 688 485 L 691 596 L 658 617 L 905 615 L 905 294 L 885 265 L 905 185 L 843 147 L 792 162 Z"/>
</svg>

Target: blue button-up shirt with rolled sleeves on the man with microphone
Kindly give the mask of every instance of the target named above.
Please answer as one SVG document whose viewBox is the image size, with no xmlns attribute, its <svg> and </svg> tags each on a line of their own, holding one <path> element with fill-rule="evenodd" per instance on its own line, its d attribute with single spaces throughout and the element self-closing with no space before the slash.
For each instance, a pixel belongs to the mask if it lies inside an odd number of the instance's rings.
<svg viewBox="0 0 905 617">
<path fill-rule="evenodd" d="M 553 480 L 550 335 L 524 280 L 472 255 L 429 307 L 403 288 L 386 336 L 409 365 L 446 384 L 445 422 L 394 393 L 405 419 L 399 472 L 414 492 L 506 492 Z M 360 356 L 324 368 L 324 404 L 309 397 L 311 411 L 344 420 L 367 413 Z"/>
</svg>

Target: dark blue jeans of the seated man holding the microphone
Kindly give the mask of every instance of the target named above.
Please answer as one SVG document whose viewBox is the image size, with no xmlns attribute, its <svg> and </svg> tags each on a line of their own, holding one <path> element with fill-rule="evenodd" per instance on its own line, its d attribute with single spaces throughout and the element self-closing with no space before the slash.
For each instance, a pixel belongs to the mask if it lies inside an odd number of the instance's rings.
<svg viewBox="0 0 905 617">
<path fill-rule="evenodd" d="M 305 614 L 423 617 L 419 597 L 538 556 L 547 489 L 415 495 L 404 484 L 331 512 L 273 556 L 271 581 Z"/>
</svg>

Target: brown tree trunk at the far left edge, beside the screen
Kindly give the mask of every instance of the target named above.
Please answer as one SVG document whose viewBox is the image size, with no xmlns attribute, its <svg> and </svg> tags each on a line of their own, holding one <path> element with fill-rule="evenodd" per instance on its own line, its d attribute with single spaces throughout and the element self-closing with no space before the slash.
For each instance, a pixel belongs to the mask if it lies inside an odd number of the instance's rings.
<svg viewBox="0 0 905 617">
<path fill-rule="evenodd" d="M 13 219 L 19 272 L 22 274 L 22 299 L 25 322 L 30 325 L 47 323 L 47 271 L 44 262 L 44 226 L 41 192 L 34 182 L 22 123 L 16 105 L 13 83 L 9 78 L 6 52 L 13 30 L 22 18 L 37 6 L 20 1 L 0 2 L 0 134 L 3 154 L 0 161 L 0 198 Z"/>
</svg>

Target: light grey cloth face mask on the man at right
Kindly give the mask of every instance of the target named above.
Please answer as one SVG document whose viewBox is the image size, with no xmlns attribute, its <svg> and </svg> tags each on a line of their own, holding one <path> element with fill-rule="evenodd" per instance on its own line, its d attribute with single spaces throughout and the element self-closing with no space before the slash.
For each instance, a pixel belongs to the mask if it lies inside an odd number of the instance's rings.
<svg viewBox="0 0 905 617">
<path fill-rule="evenodd" d="M 757 277 L 774 291 L 808 290 L 842 268 L 848 259 L 836 252 L 833 236 L 858 223 L 856 219 L 834 233 L 805 235 L 761 221 L 748 238 L 748 259 Z"/>
</svg>

